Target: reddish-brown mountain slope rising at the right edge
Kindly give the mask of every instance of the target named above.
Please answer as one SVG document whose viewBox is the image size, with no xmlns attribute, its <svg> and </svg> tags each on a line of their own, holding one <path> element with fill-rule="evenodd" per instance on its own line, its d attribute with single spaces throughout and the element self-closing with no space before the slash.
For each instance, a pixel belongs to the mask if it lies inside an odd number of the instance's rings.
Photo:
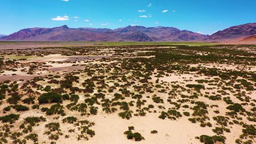
<svg viewBox="0 0 256 144">
<path fill-rule="evenodd" d="M 256 34 L 256 23 L 237 25 L 217 31 L 206 40 L 210 41 L 239 41 Z"/>
</svg>

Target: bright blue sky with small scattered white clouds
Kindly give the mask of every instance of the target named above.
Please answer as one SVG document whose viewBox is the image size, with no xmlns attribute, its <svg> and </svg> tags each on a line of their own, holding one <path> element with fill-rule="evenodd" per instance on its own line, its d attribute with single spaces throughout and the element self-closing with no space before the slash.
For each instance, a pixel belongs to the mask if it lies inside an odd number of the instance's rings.
<svg viewBox="0 0 256 144">
<path fill-rule="evenodd" d="M 256 0 L 0 0 L 0 34 L 61 25 L 111 29 L 161 25 L 212 34 L 256 22 L 255 6 Z"/>
</svg>

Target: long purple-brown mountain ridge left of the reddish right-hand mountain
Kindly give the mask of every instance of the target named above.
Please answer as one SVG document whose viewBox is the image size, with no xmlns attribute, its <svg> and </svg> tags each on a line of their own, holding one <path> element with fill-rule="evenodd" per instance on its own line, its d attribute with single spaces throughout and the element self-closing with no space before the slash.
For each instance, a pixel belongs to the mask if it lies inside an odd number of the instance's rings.
<svg viewBox="0 0 256 144">
<path fill-rule="evenodd" d="M 69 28 L 67 25 L 54 28 L 26 28 L 4 36 L 0 40 L 20 41 L 201 41 L 208 35 L 179 30 L 173 27 L 128 26 L 111 30 L 108 28 Z"/>
</svg>

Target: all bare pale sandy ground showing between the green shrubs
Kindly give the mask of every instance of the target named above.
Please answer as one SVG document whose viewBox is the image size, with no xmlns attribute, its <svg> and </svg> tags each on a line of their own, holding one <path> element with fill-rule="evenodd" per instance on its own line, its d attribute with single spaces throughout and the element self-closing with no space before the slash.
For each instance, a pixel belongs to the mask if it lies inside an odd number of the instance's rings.
<svg viewBox="0 0 256 144">
<path fill-rule="evenodd" d="M 146 52 L 146 51 L 136 51 L 136 52 Z M 136 53 L 135 52 L 135 53 Z M 150 58 L 151 56 L 144 56 L 145 58 Z M 60 54 L 55 54 L 55 55 L 48 55 L 45 56 L 43 58 L 33 58 L 33 59 L 29 59 L 27 61 L 21 61 L 22 64 L 28 64 L 29 62 L 45 62 L 46 65 L 50 65 L 51 67 L 48 67 L 48 70 L 45 71 L 36 71 L 35 74 L 33 75 L 29 75 L 26 74 L 24 72 L 21 72 L 21 68 L 18 68 L 18 71 L 4 71 L 4 73 L 2 73 L 0 75 L 0 81 L 3 80 L 19 80 L 19 79 L 24 79 L 24 82 L 26 80 L 29 79 L 33 79 L 33 77 L 35 76 L 46 76 L 48 74 L 54 74 L 54 75 L 60 75 L 63 76 L 63 73 L 69 73 L 72 71 L 77 71 L 77 70 L 84 70 L 85 67 L 83 66 L 77 66 L 78 64 L 80 65 L 86 65 L 86 64 L 111 64 L 113 62 L 118 62 L 116 59 L 113 60 L 111 59 L 111 61 L 108 62 L 100 62 L 92 60 L 92 59 L 101 59 L 101 58 L 112 58 L 111 55 L 88 55 L 88 56 L 63 56 Z M 114 57 L 114 58 L 135 58 L 135 57 Z M 56 61 L 55 63 L 52 63 L 52 61 Z M 70 61 L 70 62 L 68 62 Z M 79 61 L 79 62 L 78 62 Z M 89 61 L 89 62 L 87 62 Z M 59 63 L 58 63 L 59 62 Z M 76 66 L 72 66 L 76 64 Z M 190 67 L 198 67 L 198 66 L 202 66 L 202 67 L 206 67 L 206 68 L 219 68 L 221 70 L 245 70 L 245 71 L 256 71 L 256 67 L 249 67 L 246 65 L 220 65 L 220 64 L 191 64 L 189 65 Z M 113 72 L 113 71 L 112 71 Z M 157 70 L 153 71 L 155 73 L 157 73 Z M 60 73 L 60 74 L 57 74 Z M 5 74 L 6 76 L 3 76 L 3 74 Z M 16 74 L 14 76 L 12 76 L 11 74 Z M 88 77 L 86 76 L 81 76 L 81 75 L 77 75 L 79 76 L 79 81 L 80 83 L 73 83 L 73 86 L 77 86 L 78 88 L 83 88 L 83 86 L 81 85 L 82 82 L 84 82 L 86 79 L 88 79 Z M 100 73 L 98 73 L 97 76 L 100 76 Z M 131 72 L 129 72 L 128 74 L 126 74 L 126 76 L 133 76 Z M 151 76 L 151 80 L 149 80 L 149 82 L 152 82 L 153 85 L 155 86 L 156 83 L 155 81 L 157 79 L 159 79 L 159 84 L 161 84 L 163 87 L 168 87 L 169 89 L 167 90 L 167 92 L 170 91 L 171 85 L 173 84 L 173 82 L 177 82 L 175 85 L 180 85 L 185 87 L 186 84 L 198 84 L 197 82 L 195 82 L 195 80 L 201 80 L 201 79 L 207 79 L 207 80 L 213 80 L 216 77 L 208 77 L 208 76 L 199 76 L 198 74 L 196 74 L 196 72 L 190 72 L 189 74 L 179 74 L 176 73 L 176 71 L 174 73 L 172 73 L 170 76 L 164 76 L 164 77 L 160 77 L 157 78 L 155 77 L 156 75 L 154 74 L 153 76 Z M 63 80 L 64 78 L 61 77 L 58 80 Z M 238 77 L 237 79 L 241 79 L 241 77 Z M 38 83 L 40 85 L 42 85 L 43 87 L 45 87 L 46 85 L 50 85 L 52 88 L 59 88 L 59 85 L 56 84 L 48 84 L 47 83 L 48 80 L 46 81 L 39 81 Z M 106 80 L 108 81 L 108 80 Z M 18 82 L 19 84 L 22 84 L 24 82 Z M 109 86 L 113 86 L 113 82 L 107 83 Z M 124 82 L 120 82 L 119 84 L 124 84 Z M 139 82 L 136 82 L 137 84 L 141 84 Z M 205 86 L 205 90 L 201 90 L 201 94 L 206 94 L 209 93 L 211 94 L 218 94 L 218 90 L 220 90 L 220 88 L 216 88 L 216 89 L 207 89 L 207 88 L 212 88 L 214 86 L 209 86 L 207 83 L 202 84 Z M 217 87 L 217 86 L 216 86 Z M 156 89 L 155 87 L 152 89 Z M 223 101 L 223 100 L 216 100 L 216 101 L 212 101 L 207 97 L 204 96 L 199 96 L 198 99 L 195 99 L 196 101 L 202 101 L 205 102 L 205 104 L 209 104 L 209 105 L 218 105 L 218 107 L 213 107 L 210 108 L 208 107 L 208 114 L 207 116 L 210 117 L 209 122 L 213 125 L 213 127 L 205 127 L 202 128 L 200 126 L 200 123 L 191 123 L 189 122 L 188 118 L 193 117 L 187 117 L 185 115 L 183 115 L 182 113 L 185 111 L 190 112 L 191 114 L 193 113 L 193 110 L 187 108 L 180 108 L 179 111 L 182 114 L 182 117 L 177 118 L 177 120 L 170 120 L 170 119 L 159 119 L 158 116 L 160 115 L 160 112 L 162 110 L 160 110 L 158 108 L 159 105 L 163 105 L 164 107 L 166 107 L 166 109 L 164 111 L 167 111 L 168 108 L 173 108 L 174 105 L 169 104 L 167 102 L 168 99 L 168 95 L 167 93 L 159 93 L 158 90 L 160 90 L 162 88 L 158 88 L 156 89 L 156 91 L 154 91 L 153 93 L 146 93 L 143 95 L 143 99 L 146 99 L 146 105 L 144 105 L 145 107 L 148 104 L 153 104 L 155 105 L 155 108 L 152 110 L 156 110 L 157 113 L 149 113 L 146 112 L 146 116 L 139 116 L 136 117 L 132 114 L 131 119 L 127 120 L 127 119 L 122 119 L 121 117 L 118 116 L 118 113 L 121 112 L 121 110 L 116 111 L 115 113 L 112 114 L 106 114 L 104 111 L 102 111 L 102 106 L 101 105 L 94 105 L 98 107 L 98 114 L 95 116 L 80 116 L 80 113 L 78 113 L 77 111 L 69 111 L 67 109 L 65 109 L 65 113 L 67 114 L 64 117 L 61 117 L 60 119 L 55 119 L 54 117 L 59 116 L 57 114 L 53 115 L 53 116 L 46 116 L 45 113 L 43 113 L 40 110 L 30 110 L 29 112 L 20 112 L 21 117 L 19 120 L 17 120 L 17 122 L 15 123 L 15 125 L 19 126 L 23 119 L 25 117 L 28 116 L 44 116 L 47 118 L 46 122 L 40 122 L 39 126 L 35 126 L 33 127 L 33 132 L 36 132 L 39 135 L 39 142 L 43 142 L 43 141 L 47 141 L 49 142 L 48 136 L 44 135 L 43 132 L 45 131 L 45 125 L 49 122 L 59 122 L 61 125 L 61 132 L 65 134 L 70 135 L 70 138 L 66 139 L 64 138 L 64 135 L 60 136 L 60 139 L 58 139 L 56 141 L 57 144 L 134 144 L 134 143 L 138 143 L 138 144 L 201 144 L 199 140 L 195 139 L 195 137 L 200 136 L 200 135 L 216 135 L 212 129 L 216 126 L 219 126 L 216 124 L 216 121 L 212 119 L 213 116 L 225 116 L 225 113 L 228 111 L 226 109 L 227 104 Z M 106 90 L 106 89 L 104 89 Z M 135 92 L 134 88 L 129 87 L 128 88 L 129 91 L 131 92 Z M 179 89 L 180 90 L 180 89 Z M 68 90 L 69 91 L 69 90 Z M 43 91 L 39 90 L 39 92 L 43 93 Z M 106 98 L 112 99 L 114 96 L 114 93 L 118 93 L 119 90 L 115 89 L 113 93 L 106 93 Z M 184 91 L 184 92 L 180 92 L 181 94 L 184 95 L 191 95 L 192 92 L 195 91 L 191 91 L 190 93 L 188 91 Z M 222 97 L 226 97 L 226 96 L 231 96 L 231 99 L 233 102 L 237 102 L 237 103 L 241 103 L 241 101 L 239 101 L 237 98 L 235 98 L 235 96 L 233 96 L 233 94 L 231 94 L 228 90 L 226 91 L 228 92 L 230 95 L 223 95 Z M 248 91 L 247 92 L 247 96 L 250 96 L 252 99 L 255 99 L 255 95 L 256 95 L 256 91 L 252 91 L 250 94 Z M 68 93 L 68 92 L 67 92 Z M 96 93 L 96 91 L 95 91 Z M 120 93 L 120 92 L 119 92 Z M 135 92 L 136 93 L 136 92 Z M 83 96 L 83 93 L 78 93 L 76 92 L 77 95 L 79 95 L 79 101 L 78 102 L 84 102 L 85 100 L 85 96 Z M 145 98 L 146 95 L 152 96 L 153 94 L 156 94 L 157 96 L 160 96 L 162 99 L 164 99 L 164 104 L 156 104 L 153 102 L 152 97 L 150 98 Z M 91 94 L 92 95 L 92 94 Z M 27 95 L 25 95 L 24 97 L 27 97 Z M 181 98 L 179 98 L 181 99 Z M 126 98 L 125 101 L 129 102 L 131 100 L 134 100 L 132 98 Z M 172 101 L 176 101 L 178 99 L 172 99 Z M 64 101 L 63 102 L 63 106 L 65 107 L 65 105 L 69 104 L 70 101 Z M 187 104 L 187 103 L 186 103 Z M 1 114 L 3 113 L 3 108 L 6 107 L 7 104 L 6 102 L 3 103 L 2 105 L 0 105 L 1 109 L 0 112 Z M 40 108 L 42 107 L 50 107 L 52 104 L 45 104 L 45 105 L 40 105 Z M 189 107 L 193 107 L 193 104 L 188 103 Z M 143 106 L 143 107 L 144 107 Z M 250 106 L 245 106 L 246 110 L 250 110 Z M 131 108 L 132 111 L 135 112 L 135 110 L 137 109 L 136 107 L 132 107 Z M 220 113 L 216 114 L 213 112 L 213 110 L 219 110 Z M 16 113 L 15 110 L 11 110 L 9 112 L 7 112 L 7 114 L 9 113 Z M 77 128 L 75 127 L 73 124 L 68 124 L 68 123 L 62 123 L 61 120 L 67 116 L 76 116 L 79 120 L 89 120 L 90 122 L 95 122 L 95 126 L 92 126 L 91 129 L 95 131 L 95 136 L 92 138 L 89 138 L 88 141 L 85 140 L 80 140 L 77 141 L 77 135 L 80 134 L 80 131 L 78 131 L 76 129 L 76 131 L 74 133 L 68 133 L 68 129 L 73 129 L 73 128 Z M 254 122 L 250 122 L 246 119 L 246 116 L 240 116 L 243 118 L 243 122 L 246 122 L 247 124 L 255 124 Z M 207 121 L 208 122 L 208 121 Z M 133 132 L 140 132 L 140 134 L 145 138 L 145 140 L 143 141 L 139 141 L 139 142 L 135 142 L 134 140 L 127 140 L 126 135 L 124 135 L 124 132 L 127 131 L 128 126 L 134 126 L 135 130 L 133 130 Z M 235 139 L 237 139 L 239 137 L 239 135 L 241 135 L 242 133 L 242 128 L 240 125 L 228 125 L 228 128 L 231 130 L 230 133 L 224 132 L 224 135 L 226 137 L 226 144 L 235 144 Z M 13 128 L 16 131 L 19 131 L 18 127 Z M 158 134 L 151 134 L 150 132 L 152 130 L 157 130 Z M 23 137 L 23 136 L 22 136 Z M 253 141 L 255 143 L 255 141 Z M 27 144 L 32 144 L 32 141 L 27 141 Z M 216 143 L 217 144 L 217 143 Z M 218 143 L 220 144 L 220 143 Z M 222 143 L 221 143 L 222 144 Z"/>
</svg>

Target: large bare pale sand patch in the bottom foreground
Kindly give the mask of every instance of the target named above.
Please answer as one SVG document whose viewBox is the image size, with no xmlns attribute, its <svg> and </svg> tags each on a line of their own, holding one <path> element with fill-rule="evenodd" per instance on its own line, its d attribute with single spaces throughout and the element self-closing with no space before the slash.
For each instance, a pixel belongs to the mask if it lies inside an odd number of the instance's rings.
<svg viewBox="0 0 256 144">
<path fill-rule="evenodd" d="M 105 114 L 98 113 L 96 116 L 86 117 L 95 122 L 91 129 L 95 131 L 95 136 L 88 141 L 77 141 L 75 137 L 65 139 L 61 136 L 58 144 L 201 144 L 195 136 L 203 134 L 214 135 L 210 129 L 200 127 L 198 124 L 192 124 L 183 117 L 179 120 L 159 119 L 157 114 L 147 113 L 144 117 L 132 117 L 130 120 L 121 119 L 116 113 Z M 72 128 L 69 125 L 64 127 Z M 63 128 L 61 126 L 61 128 Z M 135 142 L 128 140 L 124 132 L 128 126 L 134 126 L 134 132 L 140 132 L 145 140 Z M 63 128 L 65 129 L 65 128 Z M 68 129 L 68 128 L 67 128 Z M 157 130 L 158 134 L 151 134 L 152 130 Z M 39 135 L 39 139 L 45 137 Z M 47 137 L 45 140 L 48 140 Z"/>
</svg>

